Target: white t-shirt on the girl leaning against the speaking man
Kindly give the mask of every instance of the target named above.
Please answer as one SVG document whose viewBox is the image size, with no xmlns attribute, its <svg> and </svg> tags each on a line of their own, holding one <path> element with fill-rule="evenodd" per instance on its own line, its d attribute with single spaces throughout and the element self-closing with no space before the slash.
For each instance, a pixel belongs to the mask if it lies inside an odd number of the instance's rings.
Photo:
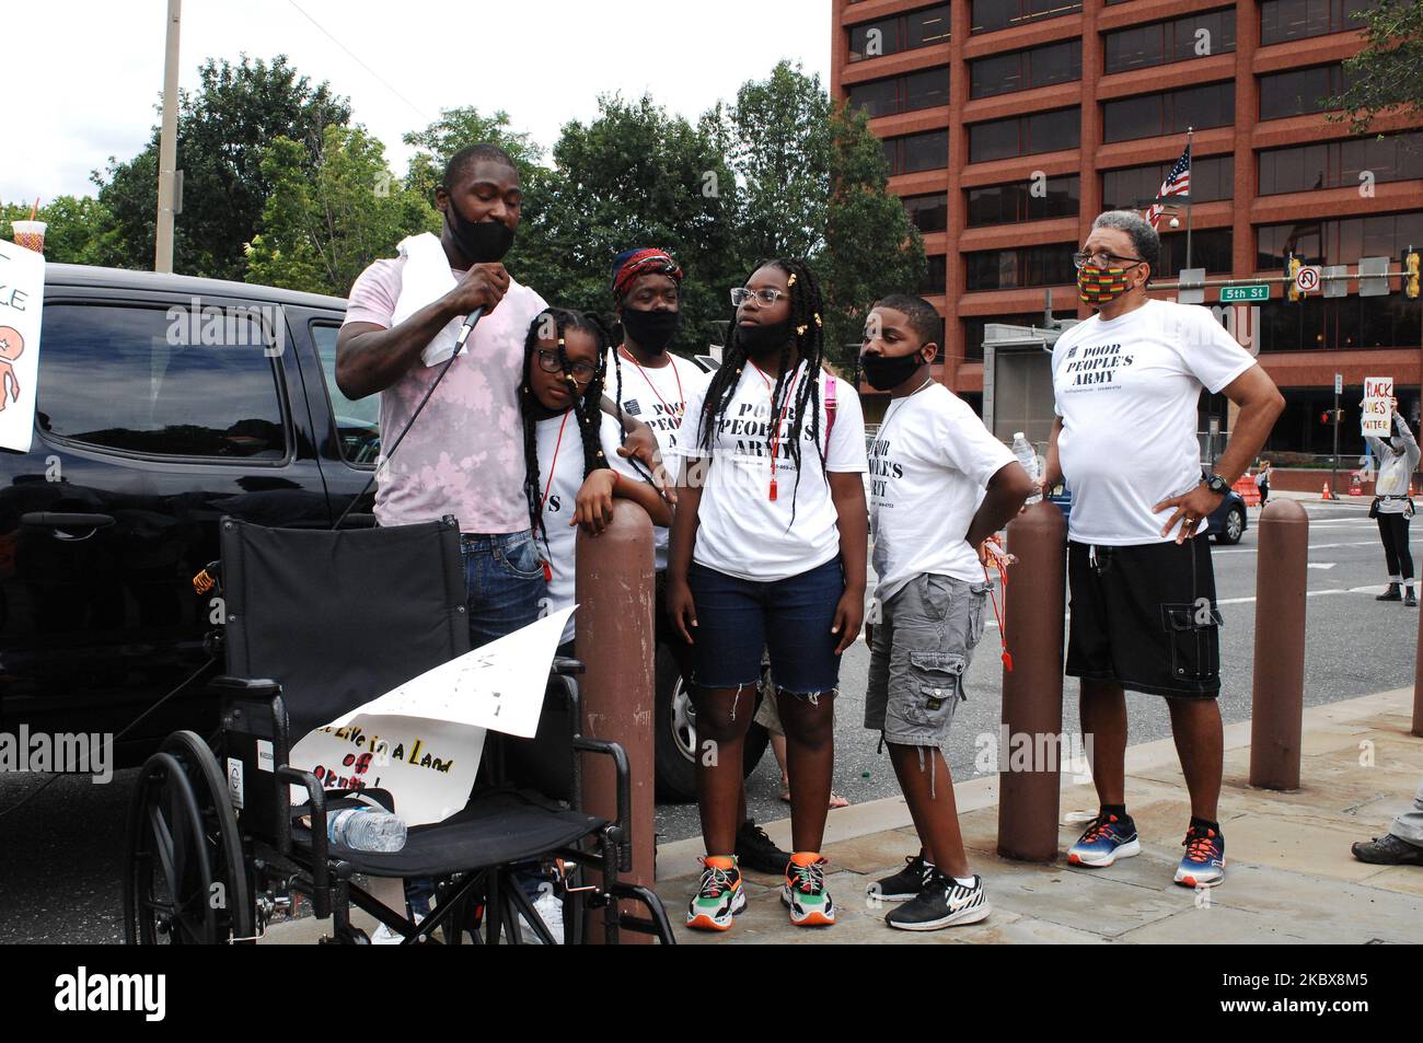
<svg viewBox="0 0 1423 1043">
<path fill-rule="evenodd" d="M 603 420 L 599 434 L 608 465 L 635 481 L 646 481 L 629 461 L 618 455 L 618 421 L 606 413 L 599 415 Z M 559 441 L 559 431 L 564 433 L 562 441 Z M 569 411 L 538 421 L 535 444 L 538 448 L 539 497 L 544 501 L 544 528 L 548 529 L 545 555 L 552 569 L 552 576 L 548 581 L 548 610 L 554 613 L 573 603 L 578 526 L 569 525 L 569 522 L 573 521 L 573 514 L 578 509 L 573 501 L 583 487 L 583 434 L 578 427 L 578 417 Z M 542 544 L 542 536 L 536 529 L 534 538 Z M 573 616 L 568 618 L 568 626 L 564 628 L 561 637 L 561 642 L 571 640 L 573 640 Z"/>
</svg>

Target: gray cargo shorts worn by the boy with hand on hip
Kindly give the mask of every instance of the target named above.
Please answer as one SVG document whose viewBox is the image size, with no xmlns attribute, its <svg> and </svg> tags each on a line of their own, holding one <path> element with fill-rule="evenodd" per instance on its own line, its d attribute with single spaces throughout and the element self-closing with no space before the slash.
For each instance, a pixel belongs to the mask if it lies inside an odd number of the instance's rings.
<svg viewBox="0 0 1423 1043">
<path fill-rule="evenodd" d="M 922 573 L 879 606 L 865 727 L 898 746 L 942 746 L 983 636 L 988 583 Z"/>
</svg>

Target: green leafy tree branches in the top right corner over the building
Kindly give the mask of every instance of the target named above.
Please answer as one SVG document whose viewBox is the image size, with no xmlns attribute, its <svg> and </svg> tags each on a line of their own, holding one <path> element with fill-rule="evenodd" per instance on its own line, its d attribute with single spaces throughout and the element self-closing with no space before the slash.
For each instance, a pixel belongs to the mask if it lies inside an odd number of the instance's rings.
<svg viewBox="0 0 1423 1043">
<path fill-rule="evenodd" d="M 1348 87 L 1329 100 L 1335 121 L 1363 134 L 1383 115 L 1423 117 L 1423 4 L 1375 0 L 1353 16 L 1362 23 L 1363 50 L 1343 63 Z"/>
</svg>

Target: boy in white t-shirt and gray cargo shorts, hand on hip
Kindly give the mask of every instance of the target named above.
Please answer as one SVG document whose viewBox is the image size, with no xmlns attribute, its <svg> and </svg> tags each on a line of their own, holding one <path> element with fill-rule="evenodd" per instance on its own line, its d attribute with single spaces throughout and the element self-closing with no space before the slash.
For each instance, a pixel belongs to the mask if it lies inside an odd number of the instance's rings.
<svg viewBox="0 0 1423 1043">
<path fill-rule="evenodd" d="M 885 922 L 904 931 L 976 923 L 989 915 L 969 872 L 941 747 L 983 636 L 989 591 L 980 545 L 1017 514 L 1033 481 L 958 396 L 936 381 L 941 320 L 922 297 L 894 295 L 865 320 L 859 363 L 889 393 L 869 447 L 875 588 L 865 727 L 878 731 L 919 831 L 908 867 L 869 886 L 904 902 Z"/>
</svg>

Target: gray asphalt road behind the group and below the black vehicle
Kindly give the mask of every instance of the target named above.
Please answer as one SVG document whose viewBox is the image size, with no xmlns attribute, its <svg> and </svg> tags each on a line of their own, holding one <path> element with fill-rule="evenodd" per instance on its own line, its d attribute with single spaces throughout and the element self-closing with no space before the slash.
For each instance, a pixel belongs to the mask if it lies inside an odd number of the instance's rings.
<svg viewBox="0 0 1423 1043">
<path fill-rule="evenodd" d="M 1410 684 L 1417 618 L 1400 605 L 1373 600 L 1383 589 L 1383 552 L 1365 507 L 1306 504 L 1306 509 L 1312 566 L 1308 573 L 1306 704 Z M 1238 546 L 1212 548 L 1225 619 L 1221 710 L 1227 721 L 1249 716 L 1255 515 L 1257 511 L 1251 511 L 1252 528 Z M 1414 535 L 1414 556 L 1423 562 L 1420 544 L 1423 539 Z M 844 657 L 835 727 L 835 788 L 857 803 L 898 793 L 888 757 L 875 754 L 875 736 L 861 726 L 867 672 L 868 652 L 861 640 Z M 956 780 L 979 774 L 982 751 L 998 737 L 1002 667 L 992 629 L 985 635 L 965 687 L 969 700 L 958 710 L 945 751 Z M 1074 683 L 1069 682 L 1063 714 L 1069 734 L 1077 731 L 1073 689 Z M 1131 693 L 1128 709 L 1131 741 L 1170 734 L 1160 699 Z M 108 785 L 64 777 L 17 812 L 0 817 L 0 943 L 120 941 L 124 808 L 134 774 L 118 773 Z M 0 774 L 0 812 L 41 783 L 37 775 Z M 747 781 L 750 811 L 756 818 L 768 821 L 788 812 L 778 800 L 777 784 L 778 771 L 767 753 Z M 663 838 L 694 835 L 696 807 L 660 807 L 657 830 Z"/>
</svg>

